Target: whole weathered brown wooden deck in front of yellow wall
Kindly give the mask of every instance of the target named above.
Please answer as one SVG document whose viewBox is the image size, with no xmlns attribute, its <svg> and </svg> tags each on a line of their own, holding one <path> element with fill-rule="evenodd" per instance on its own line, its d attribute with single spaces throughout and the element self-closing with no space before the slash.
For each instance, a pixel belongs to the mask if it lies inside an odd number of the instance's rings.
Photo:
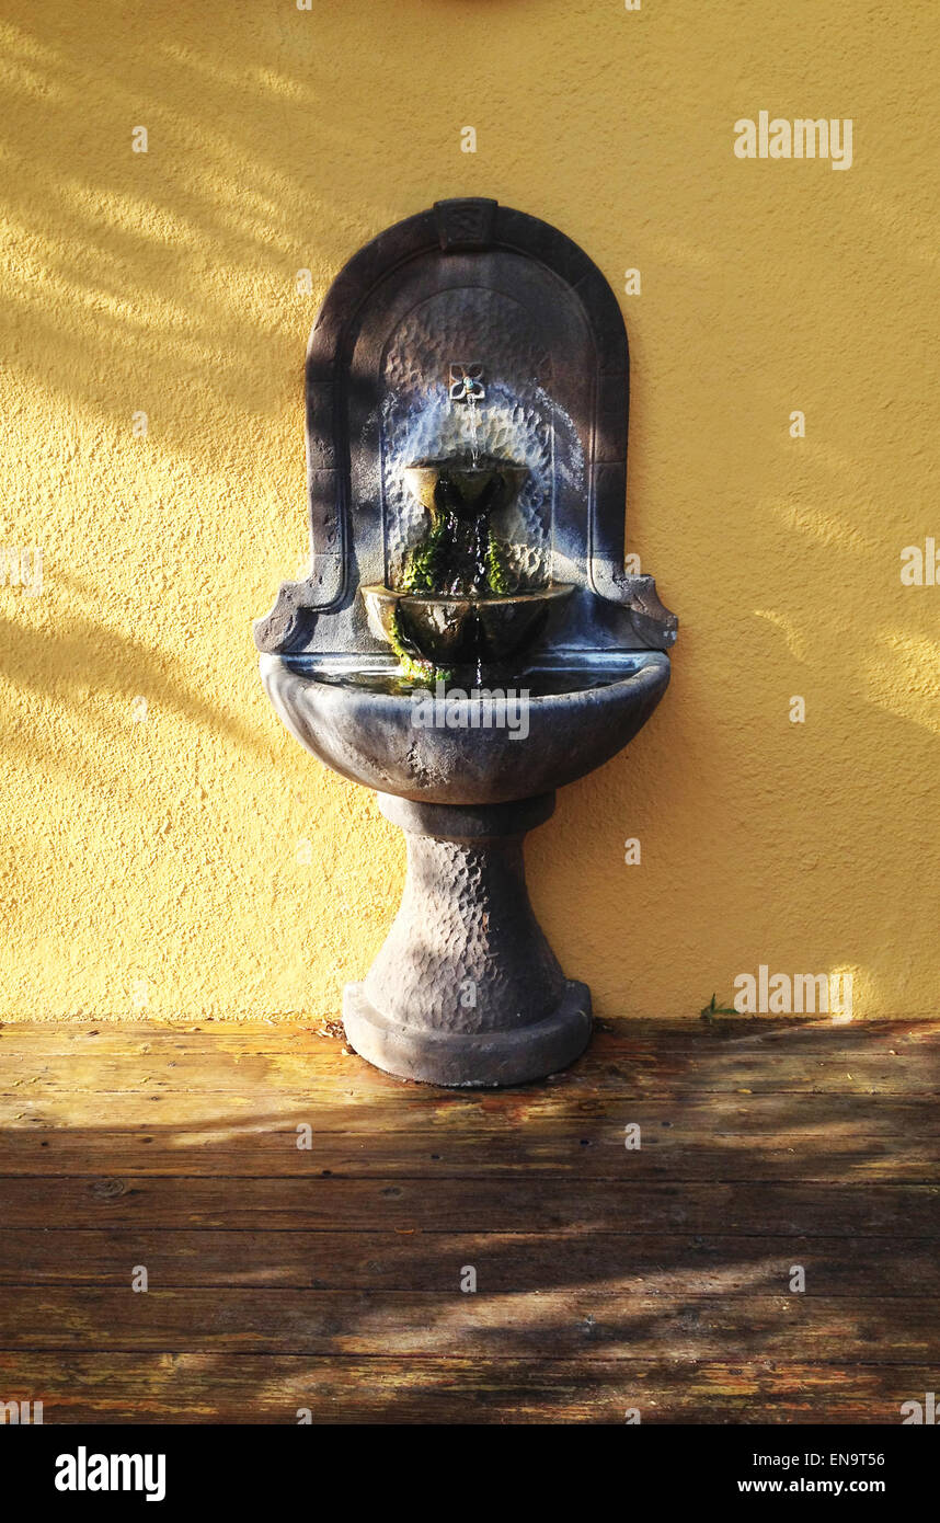
<svg viewBox="0 0 940 1523">
<path fill-rule="evenodd" d="M 471 1094 L 312 1028 L 8 1025 L 0 1400 L 897 1422 L 940 1378 L 938 1090 L 940 1022 L 625 1023 Z"/>
</svg>

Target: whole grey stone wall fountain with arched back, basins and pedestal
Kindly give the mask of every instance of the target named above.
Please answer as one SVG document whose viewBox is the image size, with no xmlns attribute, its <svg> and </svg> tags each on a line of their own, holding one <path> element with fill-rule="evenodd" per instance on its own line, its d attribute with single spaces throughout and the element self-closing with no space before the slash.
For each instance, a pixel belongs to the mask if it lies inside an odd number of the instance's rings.
<svg viewBox="0 0 940 1523">
<path fill-rule="evenodd" d="M 603 276 L 495 201 L 387 228 L 314 326 L 309 573 L 256 643 L 291 734 L 405 832 L 401 908 L 343 1004 L 350 1045 L 392 1074 L 515 1084 L 588 1042 L 523 838 L 669 682 L 676 620 L 625 573 L 626 417 Z"/>
</svg>

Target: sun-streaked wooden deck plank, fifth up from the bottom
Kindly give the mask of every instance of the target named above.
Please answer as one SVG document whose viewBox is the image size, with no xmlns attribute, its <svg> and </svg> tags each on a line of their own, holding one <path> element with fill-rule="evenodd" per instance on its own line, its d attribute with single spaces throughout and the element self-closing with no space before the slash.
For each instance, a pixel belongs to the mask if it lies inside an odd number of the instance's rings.
<svg viewBox="0 0 940 1523">
<path fill-rule="evenodd" d="M 938 1107 L 940 1109 L 940 1107 Z M 311 1148 L 297 1147 L 289 1125 L 245 1122 L 241 1129 L 207 1127 L 186 1133 L 175 1127 L 44 1127 L 18 1122 L 0 1132 L 0 1174 L 244 1174 L 306 1179 L 329 1173 L 347 1179 L 427 1174 L 434 1179 L 564 1174 L 576 1179 L 631 1180 L 777 1180 L 932 1183 L 940 1179 L 940 1132 L 920 1138 L 905 1132 L 891 1113 L 879 1115 L 864 1139 L 861 1127 L 800 1130 L 785 1122 L 775 1132 L 715 1133 L 690 1130 L 683 1112 L 675 1124 L 658 1115 L 641 1118 L 641 1147 L 625 1147 L 623 1122 L 547 1118 L 507 1125 L 501 1118 L 469 1116 L 459 1125 L 427 1124 L 413 1130 L 326 1130 L 332 1116 L 317 1118 Z M 910 1119 L 905 1116 L 905 1119 Z M 881 1133 L 881 1135 L 873 1135 Z"/>
</svg>

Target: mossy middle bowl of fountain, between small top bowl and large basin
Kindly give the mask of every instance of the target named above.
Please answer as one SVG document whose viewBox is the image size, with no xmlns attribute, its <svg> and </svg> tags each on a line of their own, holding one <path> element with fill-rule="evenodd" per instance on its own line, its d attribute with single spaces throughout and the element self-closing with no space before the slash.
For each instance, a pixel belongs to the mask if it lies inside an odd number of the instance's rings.
<svg viewBox="0 0 940 1523">
<path fill-rule="evenodd" d="M 475 661 L 507 661 L 532 644 L 548 614 L 571 592 L 556 582 L 533 592 L 481 599 L 445 597 L 437 592 L 396 592 L 387 586 L 363 586 L 369 627 L 393 644 L 398 632 L 416 655 L 436 666 Z"/>
</svg>

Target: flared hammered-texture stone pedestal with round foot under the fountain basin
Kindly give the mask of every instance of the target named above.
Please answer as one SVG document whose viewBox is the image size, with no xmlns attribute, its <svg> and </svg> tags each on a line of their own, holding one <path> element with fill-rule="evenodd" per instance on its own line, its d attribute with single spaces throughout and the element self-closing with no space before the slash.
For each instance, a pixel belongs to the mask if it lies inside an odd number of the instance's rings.
<svg viewBox="0 0 940 1523">
<path fill-rule="evenodd" d="M 376 1068 L 454 1087 L 523 1084 L 584 1052 L 591 996 L 567 979 L 535 918 L 523 836 L 555 793 L 509 804 L 420 804 L 379 793 L 405 832 L 401 908 L 343 1023 Z"/>
</svg>

